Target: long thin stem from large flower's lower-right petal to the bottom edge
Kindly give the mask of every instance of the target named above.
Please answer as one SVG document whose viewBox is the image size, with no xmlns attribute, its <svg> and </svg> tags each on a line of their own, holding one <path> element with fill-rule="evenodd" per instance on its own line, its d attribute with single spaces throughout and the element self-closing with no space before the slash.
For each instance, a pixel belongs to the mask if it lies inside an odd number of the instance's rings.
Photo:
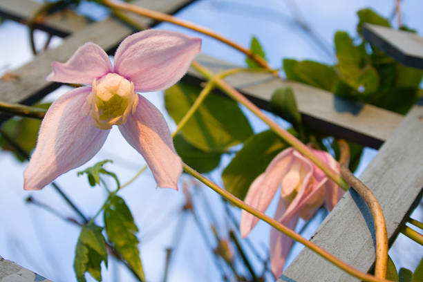
<svg viewBox="0 0 423 282">
<path fill-rule="evenodd" d="M 247 205 L 242 200 L 236 198 L 234 195 L 230 194 L 228 191 L 225 191 L 224 189 L 220 188 L 218 185 L 216 185 L 214 182 L 207 179 L 205 176 L 201 175 L 191 167 L 189 167 L 188 164 L 183 164 L 183 168 L 185 172 L 189 173 L 191 176 L 194 176 L 201 182 L 203 182 L 208 187 L 212 188 L 216 193 L 218 193 L 220 196 L 223 196 L 223 198 L 226 198 L 231 202 L 233 205 L 236 205 L 237 207 L 240 207 L 241 209 L 244 209 L 246 212 L 249 212 L 250 214 L 260 218 L 261 220 L 265 221 L 272 227 L 276 228 L 283 234 L 289 236 L 290 238 L 293 238 L 295 241 L 298 241 L 299 243 L 305 245 L 306 247 L 310 248 L 313 252 L 316 252 L 320 256 L 323 257 L 323 259 L 326 259 L 333 263 L 334 265 L 337 265 L 337 267 L 341 268 L 341 270 L 344 270 L 345 272 L 348 272 L 349 274 L 357 277 L 358 279 L 362 279 L 364 281 L 388 281 L 386 279 L 382 279 L 379 277 L 375 277 L 373 275 L 361 272 L 357 270 L 356 268 L 348 265 L 347 263 L 344 263 L 344 261 L 341 261 L 337 259 L 336 256 L 330 254 L 326 250 L 323 250 L 323 248 L 319 247 L 318 245 L 312 243 L 311 241 L 308 241 L 306 238 L 301 236 L 300 234 L 295 233 L 285 225 L 282 225 L 278 221 L 274 220 L 273 218 L 270 218 L 269 216 L 266 216 L 263 214 L 263 212 L 260 212 L 258 209 L 255 209 L 254 207 Z"/>
</svg>

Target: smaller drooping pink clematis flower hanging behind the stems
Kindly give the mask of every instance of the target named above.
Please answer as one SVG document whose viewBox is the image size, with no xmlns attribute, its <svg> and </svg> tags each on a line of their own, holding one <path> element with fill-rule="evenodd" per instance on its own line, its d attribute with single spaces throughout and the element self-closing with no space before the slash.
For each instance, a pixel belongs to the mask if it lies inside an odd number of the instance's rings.
<svg viewBox="0 0 423 282">
<path fill-rule="evenodd" d="M 339 164 L 329 153 L 314 149 L 312 151 L 339 173 Z M 332 210 L 344 194 L 344 190 L 321 169 L 293 148 L 279 153 L 265 172 L 252 182 L 245 203 L 265 212 L 279 187 L 281 198 L 274 218 L 290 229 L 295 228 L 299 217 L 309 220 L 323 201 Z M 243 210 L 240 226 L 243 238 L 250 234 L 258 222 L 259 218 Z M 276 278 L 283 272 L 283 265 L 293 243 L 292 238 L 271 229 L 270 268 Z"/>
</svg>

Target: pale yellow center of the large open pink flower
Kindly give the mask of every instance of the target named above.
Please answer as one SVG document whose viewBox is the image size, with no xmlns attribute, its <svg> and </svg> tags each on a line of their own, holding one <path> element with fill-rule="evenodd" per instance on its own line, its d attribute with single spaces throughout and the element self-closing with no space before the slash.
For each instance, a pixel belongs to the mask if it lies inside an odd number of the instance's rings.
<svg viewBox="0 0 423 282">
<path fill-rule="evenodd" d="M 124 124 L 129 113 L 138 104 L 138 94 L 133 92 L 133 83 L 116 74 L 108 73 L 93 81 L 93 91 L 87 98 L 89 113 L 99 129 L 111 129 Z"/>
</svg>

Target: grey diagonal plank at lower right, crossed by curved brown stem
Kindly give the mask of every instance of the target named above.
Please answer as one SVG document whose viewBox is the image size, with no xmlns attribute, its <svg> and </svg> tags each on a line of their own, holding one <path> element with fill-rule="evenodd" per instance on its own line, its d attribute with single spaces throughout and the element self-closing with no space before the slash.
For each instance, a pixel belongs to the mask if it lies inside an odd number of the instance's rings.
<svg viewBox="0 0 423 282">
<path fill-rule="evenodd" d="M 404 218 L 422 196 L 422 140 L 423 106 L 414 106 L 360 177 L 382 206 L 391 243 Z M 323 220 L 312 241 L 368 272 L 375 261 L 372 236 L 370 212 L 350 189 Z M 279 281 L 357 281 L 308 249 L 297 256 L 284 274 L 289 279 L 284 277 Z"/>
</svg>

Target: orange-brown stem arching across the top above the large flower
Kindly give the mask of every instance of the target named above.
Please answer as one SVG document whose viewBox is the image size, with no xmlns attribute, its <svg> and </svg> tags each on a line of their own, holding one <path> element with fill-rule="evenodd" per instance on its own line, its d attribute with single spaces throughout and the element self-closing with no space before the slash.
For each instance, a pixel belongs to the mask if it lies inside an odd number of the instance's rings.
<svg viewBox="0 0 423 282">
<path fill-rule="evenodd" d="M 120 9 L 120 10 L 125 10 L 125 11 L 128 11 L 128 12 L 133 12 L 137 15 L 142 15 L 142 16 L 145 16 L 145 17 L 149 17 L 151 19 L 156 19 L 157 21 L 167 21 L 169 23 L 174 23 L 178 26 L 183 26 L 185 28 L 189 28 L 191 30 L 195 30 L 197 32 L 203 33 L 204 35 L 207 35 L 209 37 L 213 37 L 214 39 L 218 39 L 219 41 L 222 41 L 223 43 L 225 43 L 229 46 L 232 46 L 236 50 L 241 51 L 242 53 L 244 53 L 245 55 L 247 55 L 248 57 L 253 59 L 254 62 L 259 64 L 259 66 L 262 66 L 263 68 L 270 69 L 270 67 L 267 65 L 267 62 L 265 61 L 265 59 L 263 59 L 259 55 L 252 53 L 252 51 L 250 49 L 247 49 L 247 48 L 237 44 L 236 42 L 234 42 L 234 41 L 232 41 L 232 40 L 230 40 L 226 37 L 223 37 L 222 35 L 218 35 L 216 32 L 209 30 L 208 28 L 203 28 L 203 26 L 198 26 L 194 23 L 190 23 L 189 21 L 184 21 L 182 19 L 178 19 L 178 18 L 173 17 L 171 15 L 164 14 L 162 12 L 156 12 L 156 11 L 153 11 L 153 10 L 148 10 L 146 8 L 131 5 L 129 3 L 124 3 L 122 1 L 104 0 L 103 3 L 104 3 L 105 6 L 108 6 L 109 8 L 112 8 L 112 9 Z"/>
</svg>

